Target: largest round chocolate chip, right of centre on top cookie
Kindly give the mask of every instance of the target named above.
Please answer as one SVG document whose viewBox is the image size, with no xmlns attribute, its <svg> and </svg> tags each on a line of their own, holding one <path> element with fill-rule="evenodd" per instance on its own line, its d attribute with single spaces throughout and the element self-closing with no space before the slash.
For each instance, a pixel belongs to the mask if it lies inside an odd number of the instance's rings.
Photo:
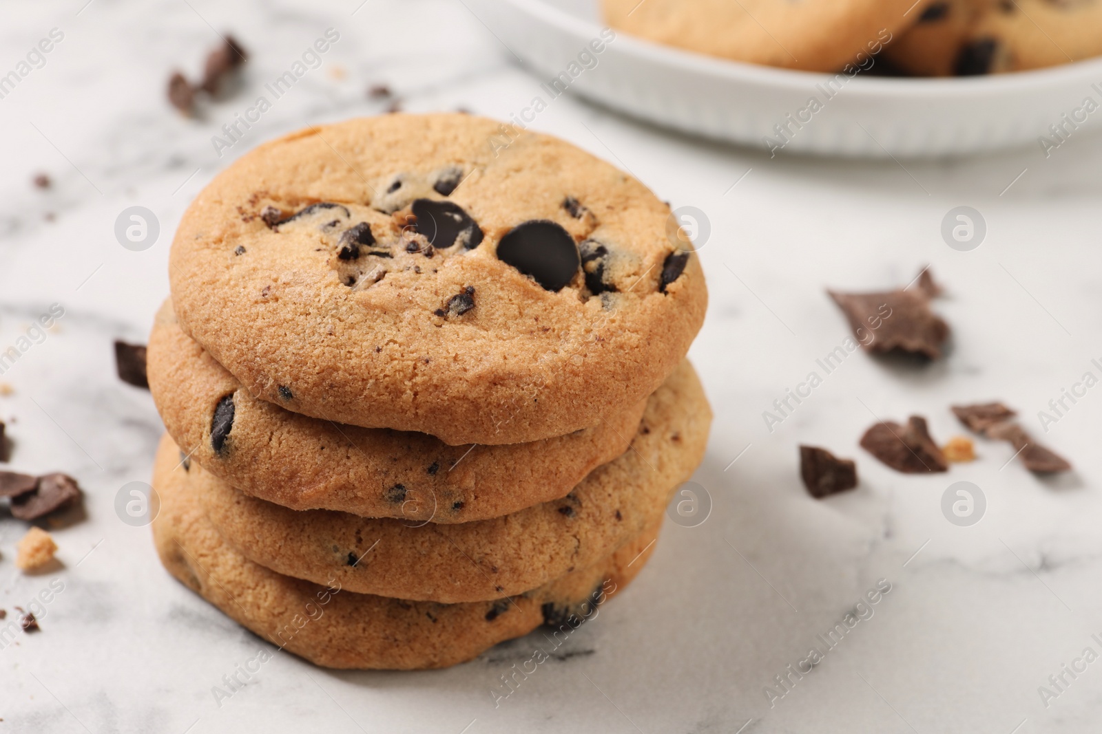
<svg viewBox="0 0 1102 734">
<path fill-rule="evenodd" d="M 577 245 L 561 224 L 547 219 L 514 228 L 497 245 L 497 259 L 531 275 L 547 291 L 561 291 L 581 264 Z"/>
</svg>

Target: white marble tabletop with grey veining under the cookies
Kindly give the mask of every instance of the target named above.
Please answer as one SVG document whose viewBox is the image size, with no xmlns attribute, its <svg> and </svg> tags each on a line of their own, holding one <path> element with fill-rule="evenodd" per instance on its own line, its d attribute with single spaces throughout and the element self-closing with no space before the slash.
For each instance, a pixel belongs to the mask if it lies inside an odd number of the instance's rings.
<svg viewBox="0 0 1102 734">
<path fill-rule="evenodd" d="M 1099 374 L 1102 139 L 1073 138 L 1048 160 L 1039 149 L 903 165 L 770 160 L 570 97 L 534 127 L 710 220 L 711 308 L 692 357 L 716 414 L 694 478 L 711 516 L 668 523 L 650 566 L 572 638 L 571 655 L 498 708 L 490 690 L 536 638 L 421 673 L 329 672 L 280 654 L 216 701 L 224 676 L 271 648 L 173 581 L 149 529 L 116 516 L 119 487 L 148 480 L 161 426 L 149 394 L 115 377 L 111 340 L 144 340 L 184 207 L 242 151 L 306 122 L 381 112 L 388 102 L 364 94 L 375 84 L 411 111 L 506 118 L 541 79 L 461 0 L 84 2 L 9 3 L 0 29 L 0 74 L 51 29 L 64 34 L 0 99 L 0 348 L 51 304 L 65 309 L 0 376 L 14 388 L 0 396 L 0 418 L 11 468 L 63 470 L 87 492 L 87 517 L 56 530 L 61 566 L 45 574 L 15 570 L 25 526 L 0 519 L 7 622 L 51 581 L 64 584 L 42 632 L 0 650 L 0 732 L 1098 731 L 1102 662 L 1073 661 L 1087 647 L 1102 653 L 1092 637 L 1102 633 L 1102 387 L 1044 435 L 1076 463 L 1058 479 L 1030 475 L 1008 446 L 984 441 L 975 463 L 903 475 L 857 439 L 874 414 L 918 413 L 944 440 L 960 432 L 950 403 L 987 398 L 1020 408 L 1041 435 L 1037 412 L 1082 373 Z M 341 37 L 323 65 L 219 156 L 212 135 L 328 28 Z M 165 80 L 176 66 L 197 74 L 215 29 L 252 58 L 237 95 L 185 120 L 168 107 Z M 31 185 L 40 172 L 52 188 Z M 112 231 L 134 205 L 161 226 L 142 252 Z M 961 205 L 988 227 L 972 252 L 939 233 Z M 927 263 L 948 291 L 937 309 L 954 330 L 949 357 L 917 368 L 853 354 L 769 432 L 763 410 L 847 333 L 824 287 L 903 285 Z M 801 442 L 856 458 L 860 487 L 810 499 Z M 971 527 L 941 512 L 961 480 L 986 497 Z M 823 648 L 817 635 L 878 579 L 890 591 L 873 616 L 770 702 L 765 687 Z M 1076 678 L 1061 670 L 1073 664 L 1085 666 Z M 1063 676 L 1059 689 L 1051 675 Z M 1040 686 L 1059 695 L 1042 701 Z"/>
</svg>

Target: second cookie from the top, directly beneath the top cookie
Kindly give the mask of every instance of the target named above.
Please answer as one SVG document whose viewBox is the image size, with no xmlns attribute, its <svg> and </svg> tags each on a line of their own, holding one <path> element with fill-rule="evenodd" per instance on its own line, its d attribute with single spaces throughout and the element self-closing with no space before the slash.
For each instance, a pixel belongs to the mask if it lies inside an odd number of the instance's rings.
<svg viewBox="0 0 1102 734">
<path fill-rule="evenodd" d="M 594 428 L 503 446 L 334 424 L 250 395 L 180 329 L 171 303 L 150 335 L 148 375 L 183 454 L 230 486 L 291 510 L 410 523 L 483 521 L 565 496 L 628 449 L 649 399 Z M 234 413 L 218 423 L 227 396 Z"/>
</svg>

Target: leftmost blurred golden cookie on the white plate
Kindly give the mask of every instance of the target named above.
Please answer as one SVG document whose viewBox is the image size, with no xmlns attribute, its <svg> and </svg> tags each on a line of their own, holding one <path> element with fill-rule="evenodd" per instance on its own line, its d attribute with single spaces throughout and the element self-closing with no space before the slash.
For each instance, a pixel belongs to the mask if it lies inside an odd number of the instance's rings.
<svg viewBox="0 0 1102 734">
<path fill-rule="evenodd" d="M 711 56 L 838 72 L 875 55 L 925 0 L 604 0 L 620 31 Z"/>
</svg>

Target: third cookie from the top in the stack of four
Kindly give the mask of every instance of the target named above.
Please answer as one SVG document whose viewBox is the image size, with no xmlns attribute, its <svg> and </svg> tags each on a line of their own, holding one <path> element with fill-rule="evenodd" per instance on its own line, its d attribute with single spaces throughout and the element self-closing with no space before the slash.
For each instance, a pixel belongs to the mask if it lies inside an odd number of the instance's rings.
<svg viewBox="0 0 1102 734">
<path fill-rule="evenodd" d="M 651 397 L 630 450 L 564 499 L 461 525 L 296 512 L 238 492 L 195 462 L 183 486 L 230 546 L 279 573 L 381 596 L 485 601 L 596 563 L 658 523 L 703 459 L 710 423 L 683 362 Z M 176 456 L 169 438 L 162 450 Z"/>
</svg>

